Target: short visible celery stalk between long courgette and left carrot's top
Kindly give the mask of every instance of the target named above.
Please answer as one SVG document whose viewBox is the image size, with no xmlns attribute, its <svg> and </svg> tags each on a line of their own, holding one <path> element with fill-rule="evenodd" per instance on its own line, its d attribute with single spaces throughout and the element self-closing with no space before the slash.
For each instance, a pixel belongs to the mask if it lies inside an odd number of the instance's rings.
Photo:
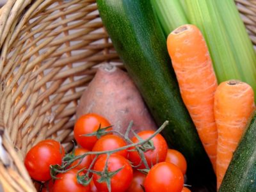
<svg viewBox="0 0 256 192">
<path fill-rule="evenodd" d="M 151 0 L 151 4 L 165 36 L 168 36 L 179 26 L 188 24 L 188 19 L 180 0 Z"/>
</svg>

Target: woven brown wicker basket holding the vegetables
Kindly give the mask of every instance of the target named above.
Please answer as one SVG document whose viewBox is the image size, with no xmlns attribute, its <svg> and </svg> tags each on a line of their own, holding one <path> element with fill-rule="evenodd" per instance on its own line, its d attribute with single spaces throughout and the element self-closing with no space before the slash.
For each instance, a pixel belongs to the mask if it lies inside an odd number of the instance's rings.
<svg viewBox="0 0 256 192">
<path fill-rule="evenodd" d="M 255 0 L 237 8 L 256 44 Z M 97 66 L 122 63 L 95 0 L 9 0 L 0 14 L 0 181 L 4 191 L 36 191 L 24 154 L 45 138 L 68 150 L 77 100 Z"/>
</svg>

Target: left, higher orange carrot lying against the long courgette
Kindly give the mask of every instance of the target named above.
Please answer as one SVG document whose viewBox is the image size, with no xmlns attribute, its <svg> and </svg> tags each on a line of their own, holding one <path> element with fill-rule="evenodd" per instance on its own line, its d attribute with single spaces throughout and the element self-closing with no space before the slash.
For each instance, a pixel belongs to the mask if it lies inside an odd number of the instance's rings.
<svg viewBox="0 0 256 192">
<path fill-rule="evenodd" d="M 215 170 L 218 134 L 213 107 L 218 84 L 204 36 L 196 26 L 186 24 L 170 33 L 167 48 L 182 100 Z"/>
</svg>

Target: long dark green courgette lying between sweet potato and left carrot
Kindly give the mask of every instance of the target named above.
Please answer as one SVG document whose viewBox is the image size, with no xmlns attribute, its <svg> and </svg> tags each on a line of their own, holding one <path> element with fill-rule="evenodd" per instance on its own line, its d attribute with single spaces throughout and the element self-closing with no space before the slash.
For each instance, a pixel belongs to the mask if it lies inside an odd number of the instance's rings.
<svg viewBox="0 0 256 192">
<path fill-rule="evenodd" d="M 166 39 L 150 1 L 97 0 L 97 5 L 113 45 L 156 123 L 160 126 L 169 120 L 163 136 L 186 157 L 188 179 L 193 184 L 215 182 L 209 158 L 180 97 Z"/>
</svg>

